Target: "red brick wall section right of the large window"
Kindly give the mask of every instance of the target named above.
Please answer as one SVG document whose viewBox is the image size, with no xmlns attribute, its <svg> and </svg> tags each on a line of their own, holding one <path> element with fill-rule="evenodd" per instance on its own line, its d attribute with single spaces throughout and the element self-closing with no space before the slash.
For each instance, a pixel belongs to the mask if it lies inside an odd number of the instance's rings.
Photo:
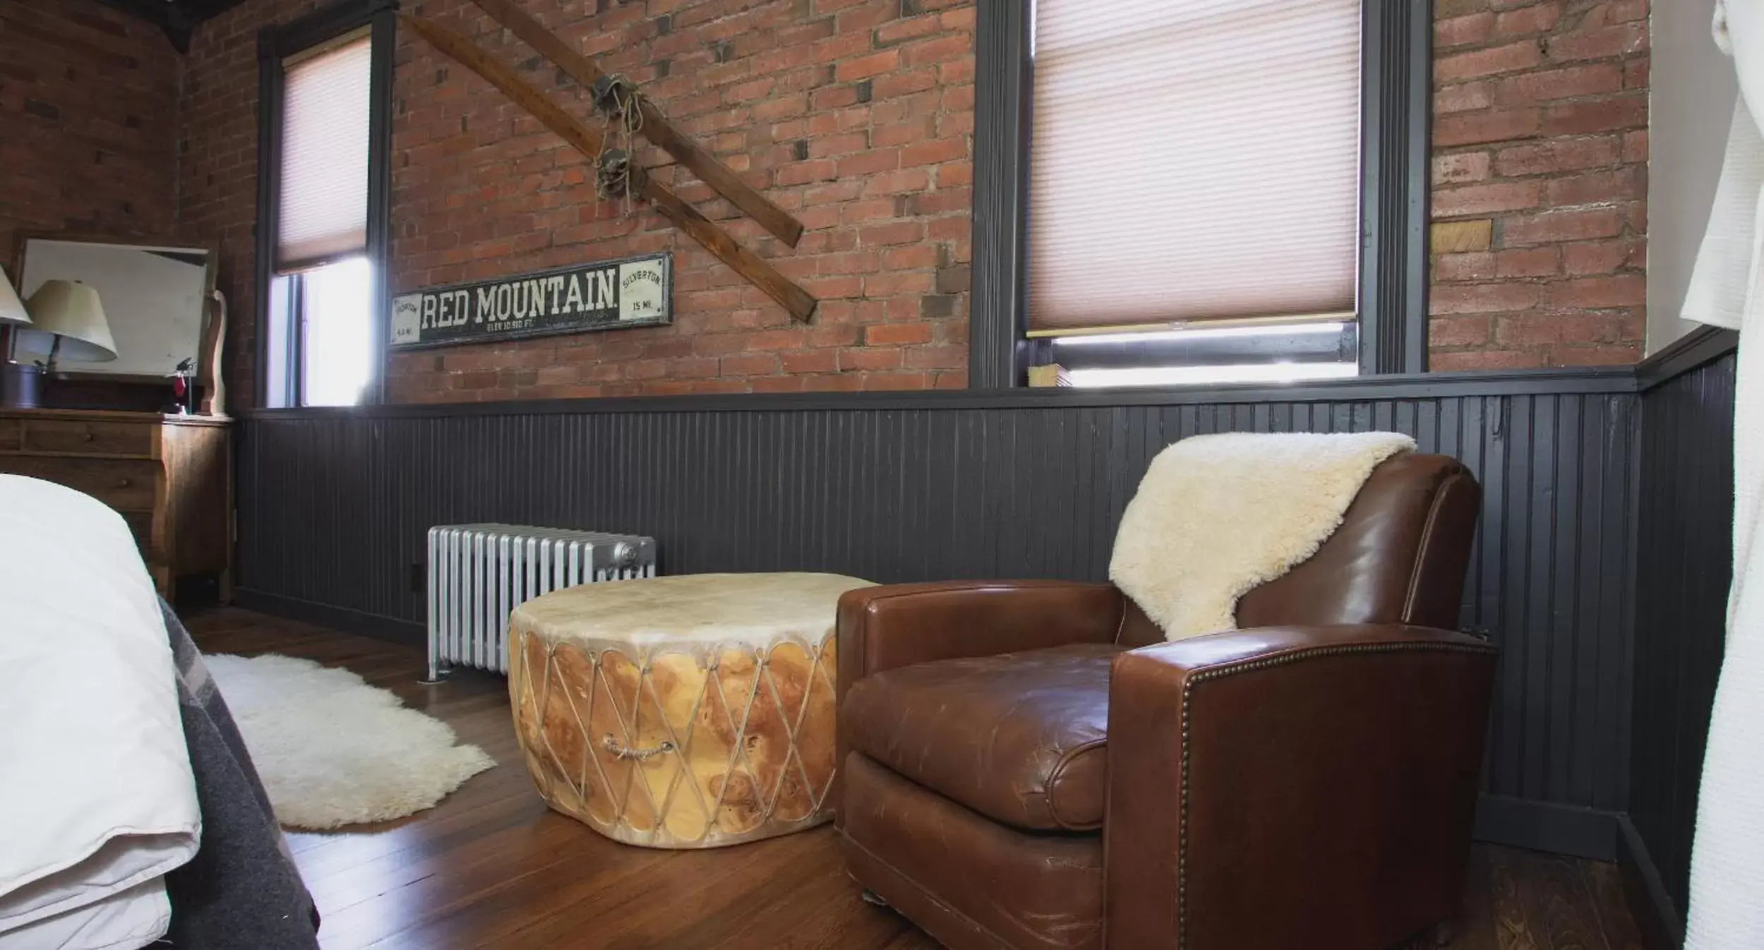
<svg viewBox="0 0 1764 950">
<path fill-rule="evenodd" d="M 1432 368 L 1641 360 L 1648 0 L 1438 0 Z"/>
</svg>

